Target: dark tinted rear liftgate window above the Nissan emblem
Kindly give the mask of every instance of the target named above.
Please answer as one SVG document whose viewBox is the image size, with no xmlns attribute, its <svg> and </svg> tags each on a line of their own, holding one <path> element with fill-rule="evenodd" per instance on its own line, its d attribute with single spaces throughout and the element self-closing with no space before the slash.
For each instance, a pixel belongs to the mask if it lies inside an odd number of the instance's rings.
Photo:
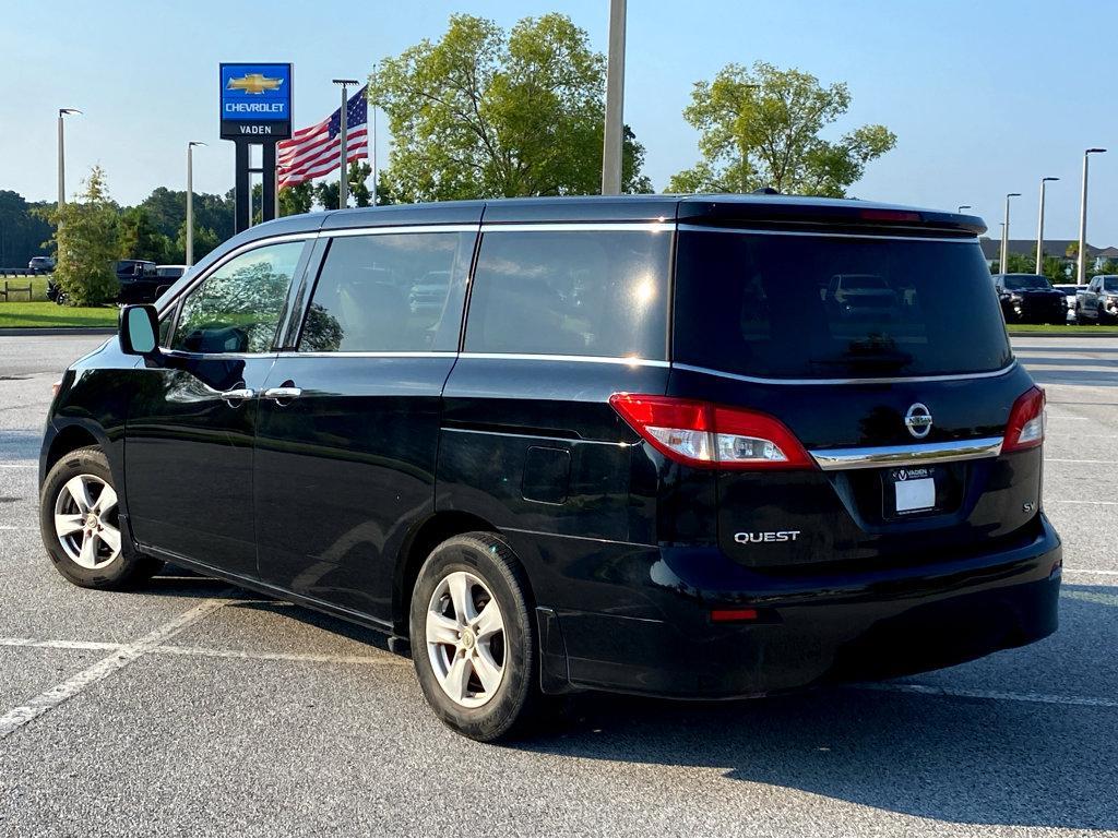
<svg viewBox="0 0 1118 839">
<path fill-rule="evenodd" d="M 765 378 L 941 375 L 1012 354 L 974 241 L 681 230 L 674 360 Z"/>
</svg>

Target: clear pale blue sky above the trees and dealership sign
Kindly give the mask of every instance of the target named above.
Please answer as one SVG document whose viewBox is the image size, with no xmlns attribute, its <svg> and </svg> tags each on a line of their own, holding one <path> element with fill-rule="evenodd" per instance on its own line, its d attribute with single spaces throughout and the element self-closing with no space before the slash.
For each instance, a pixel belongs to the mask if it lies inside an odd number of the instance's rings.
<svg viewBox="0 0 1118 839">
<path fill-rule="evenodd" d="M 67 124 L 70 191 L 98 162 L 125 203 L 157 185 L 181 188 L 186 142 L 203 140 L 195 187 L 221 192 L 233 182 L 233 145 L 217 137 L 219 61 L 293 61 L 302 126 L 337 107 L 331 77 L 363 77 L 381 57 L 438 38 L 452 12 L 510 26 L 552 10 L 605 49 L 608 0 L 6 0 L 0 189 L 55 196 L 54 117 L 74 106 L 85 115 Z M 629 0 L 625 118 L 663 189 L 698 156 L 681 116 L 697 79 L 764 59 L 845 80 L 853 106 L 835 133 L 880 122 L 898 135 L 853 194 L 973 204 L 996 235 L 1005 193 L 1021 192 L 1014 238 L 1035 235 L 1042 175 L 1062 179 L 1050 184 L 1046 233 L 1076 237 L 1082 150 L 1109 144 L 1110 154 L 1092 159 L 1088 238 L 1118 244 L 1118 108 L 1107 47 L 1116 30 L 1118 3 L 1101 2 Z"/>
</svg>

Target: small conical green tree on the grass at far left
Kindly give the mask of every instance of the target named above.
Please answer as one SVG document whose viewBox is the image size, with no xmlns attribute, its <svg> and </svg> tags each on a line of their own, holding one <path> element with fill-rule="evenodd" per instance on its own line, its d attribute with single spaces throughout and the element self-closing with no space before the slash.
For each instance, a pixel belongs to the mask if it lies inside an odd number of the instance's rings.
<svg viewBox="0 0 1118 839">
<path fill-rule="evenodd" d="M 74 201 L 49 213 L 58 247 L 54 279 L 69 305 L 100 306 L 120 290 L 113 271 L 120 256 L 119 210 L 101 166 L 94 166 L 83 183 Z"/>
</svg>

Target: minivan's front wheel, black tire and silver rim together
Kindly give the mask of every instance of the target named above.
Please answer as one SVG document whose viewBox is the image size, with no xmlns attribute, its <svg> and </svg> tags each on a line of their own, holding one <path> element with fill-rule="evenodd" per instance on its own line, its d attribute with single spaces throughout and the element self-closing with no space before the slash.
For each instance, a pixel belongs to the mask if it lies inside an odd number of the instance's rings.
<svg viewBox="0 0 1118 839">
<path fill-rule="evenodd" d="M 126 589 L 162 568 L 159 560 L 123 550 L 127 536 L 119 512 L 113 474 L 100 448 L 75 449 L 54 465 L 39 496 L 39 532 L 59 574 L 85 589 Z"/>
</svg>

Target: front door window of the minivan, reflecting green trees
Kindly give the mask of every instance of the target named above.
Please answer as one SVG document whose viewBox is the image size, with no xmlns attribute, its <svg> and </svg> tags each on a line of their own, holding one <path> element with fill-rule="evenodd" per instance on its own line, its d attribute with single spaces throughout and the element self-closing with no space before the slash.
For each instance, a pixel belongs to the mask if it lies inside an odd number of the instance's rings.
<svg viewBox="0 0 1118 839">
<path fill-rule="evenodd" d="M 267 352 L 302 252 L 302 241 L 266 245 L 222 265 L 182 301 L 171 349 Z"/>
</svg>

